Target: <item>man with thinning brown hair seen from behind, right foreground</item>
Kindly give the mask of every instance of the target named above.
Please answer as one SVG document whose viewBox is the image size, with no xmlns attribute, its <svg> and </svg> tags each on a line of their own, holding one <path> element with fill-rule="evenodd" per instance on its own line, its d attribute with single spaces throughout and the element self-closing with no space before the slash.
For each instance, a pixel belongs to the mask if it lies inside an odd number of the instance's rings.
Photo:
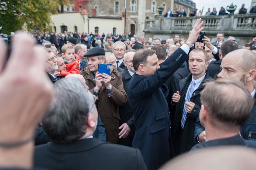
<svg viewBox="0 0 256 170">
<path fill-rule="evenodd" d="M 242 82 L 219 79 L 205 83 L 201 103 L 199 120 L 205 128 L 207 141 L 195 145 L 191 151 L 228 145 L 256 149 L 256 141 L 244 140 L 240 136 L 240 129 L 248 119 L 254 103 Z"/>
</svg>

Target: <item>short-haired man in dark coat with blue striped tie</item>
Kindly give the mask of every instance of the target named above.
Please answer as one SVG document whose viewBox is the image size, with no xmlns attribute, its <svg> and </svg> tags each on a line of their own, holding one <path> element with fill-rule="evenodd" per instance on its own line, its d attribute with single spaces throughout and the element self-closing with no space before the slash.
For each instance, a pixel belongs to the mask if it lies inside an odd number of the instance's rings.
<svg viewBox="0 0 256 170">
<path fill-rule="evenodd" d="M 189 151 L 195 145 L 193 132 L 201 108 L 200 92 L 205 81 L 213 80 L 206 69 L 208 65 L 207 52 L 199 48 L 192 50 L 188 58 L 190 74 L 174 86 L 176 89 L 172 102 L 176 104 L 173 129 L 175 155 Z"/>
</svg>

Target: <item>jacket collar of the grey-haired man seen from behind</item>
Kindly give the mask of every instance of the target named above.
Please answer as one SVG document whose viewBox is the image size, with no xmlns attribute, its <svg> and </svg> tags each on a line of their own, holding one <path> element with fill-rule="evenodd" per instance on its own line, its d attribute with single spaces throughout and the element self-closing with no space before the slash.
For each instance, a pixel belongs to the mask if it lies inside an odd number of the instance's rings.
<svg viewBox="0 0 256 170">
<path fill-rule="evenodd" d="M 48 142 L 47 147 L 54 152 L 68 153 L 68 152 L 81 152 L 81 151 L 90 150 L 102 144 L 105 144 L 105 143 L 100 141 L 97 138 L 90 138 L 90 139 L 77 140 L 73 143 L 68 143 L 68 144 L 58 144 L 54 142 Z"/>
</svg>

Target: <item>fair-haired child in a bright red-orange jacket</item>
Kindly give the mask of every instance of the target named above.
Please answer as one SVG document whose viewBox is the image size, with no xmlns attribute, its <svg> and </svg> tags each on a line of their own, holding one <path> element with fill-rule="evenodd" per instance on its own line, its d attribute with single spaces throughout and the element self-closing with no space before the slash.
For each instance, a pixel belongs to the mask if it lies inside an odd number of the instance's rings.
<svg viewBox="0 0 256 170">
<path fill-rule="evenodd" d="M 67 76 L 68 74 L 78 74 L 80 72 L 80 65 L 79 61 L 75 59 L 75 48 L 72 45 L 63 45 L 61 51 L 61 57 L 65 61 L 67 71 L 61 70 L 59 76 Z"/>
</svg>

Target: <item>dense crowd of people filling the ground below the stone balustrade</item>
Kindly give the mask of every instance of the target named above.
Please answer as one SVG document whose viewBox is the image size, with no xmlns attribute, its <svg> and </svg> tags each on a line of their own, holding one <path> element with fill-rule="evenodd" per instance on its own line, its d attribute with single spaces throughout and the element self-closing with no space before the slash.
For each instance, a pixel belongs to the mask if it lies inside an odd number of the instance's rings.
<svg viewBox="0 0 256 170">
<path fill-rule="evenodd" d="M 202 30 L 197 19 L 187 39 L 103 43 L 65 32 L 61 46 L 18 33 L 5 66 L 0 42 L 0 166 L 155 170 L 217 146 L 255 156 L 256 37 L 239 49 L 222 32 L 197 42 Z"/>
</svg>

